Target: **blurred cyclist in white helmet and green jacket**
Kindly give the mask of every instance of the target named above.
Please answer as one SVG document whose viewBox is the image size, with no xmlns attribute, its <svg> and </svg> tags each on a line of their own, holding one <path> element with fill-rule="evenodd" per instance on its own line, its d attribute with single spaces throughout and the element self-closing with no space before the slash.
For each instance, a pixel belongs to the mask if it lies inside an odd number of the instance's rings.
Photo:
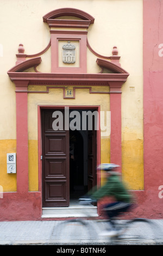
<svg viewBox="0 0 163 256">
<path fill-rule="evenodd" d="M 126 212 L 130 209 L 132 205 L 133 197 L 128 192 L 126 186 L 123 184 L 120 173 L 117 172 L 119 166 L 117 164 L 112 163 L 103 163 L 98 166 L 97 169 L 104 170 L 104 174 L 106 174 L 106 182 L 105 184 L 96 190 L 95 192 L 89 192 L 90 198 L 95 200 L 100 200 L 106 196 L 114 197 L 115 202 L 105 204 L 103 206 L 103 210 L 106 212 L 107 217 L 111 223 L 111 231 L 105 231 L 101 235 L 118 235 L 120 230 L 116 230 L 116 226 L 114 225 L 114 221 L 112 218 L 120 214 L 121 212 Z"/>
</svg>

